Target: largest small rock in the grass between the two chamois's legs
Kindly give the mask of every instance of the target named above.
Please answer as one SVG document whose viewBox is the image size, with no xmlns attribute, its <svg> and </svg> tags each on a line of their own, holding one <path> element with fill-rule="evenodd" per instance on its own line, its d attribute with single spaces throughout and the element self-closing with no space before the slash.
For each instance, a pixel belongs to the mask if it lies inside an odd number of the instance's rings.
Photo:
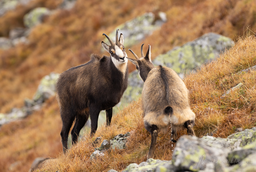
<svg viewBox="0 0 256 172">
<path fill-rule="evenodd" d="M 126 140 L 128 137 L 130 137 L 130 132 L 127 132 L 125 135 L 119 134 L 115 136 L 114 139 L 110 140 L 111 149 L 125 149 Z"/>
</svg>

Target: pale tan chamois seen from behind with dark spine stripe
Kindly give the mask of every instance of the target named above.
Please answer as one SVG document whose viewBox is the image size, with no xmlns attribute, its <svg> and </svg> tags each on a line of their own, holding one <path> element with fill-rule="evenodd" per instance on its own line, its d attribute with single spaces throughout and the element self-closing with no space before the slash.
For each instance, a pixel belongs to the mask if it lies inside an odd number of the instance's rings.
<svg viewBox="0 0 256 172">
<path fill-rule="evenodd" d="M 145 128 L 151 134 L 151 144 L 147 158 L 153 158 L 158 131 L 167 128 L 172 122 L 172 135 L 176 137 L 178 127 L 185 127 L 189 135 L 195 135 L 193 126 L 195 114 L 190 109 L 189 91 L 175 71 L 161 65 L 154 67 L 151 62 L 150 45 L 144 57 L 141 45 L 141 58 L 132 51 L 136 59 L 128 58 L 139 71 L 144 81 L 141 101 Z"/>
</svg>

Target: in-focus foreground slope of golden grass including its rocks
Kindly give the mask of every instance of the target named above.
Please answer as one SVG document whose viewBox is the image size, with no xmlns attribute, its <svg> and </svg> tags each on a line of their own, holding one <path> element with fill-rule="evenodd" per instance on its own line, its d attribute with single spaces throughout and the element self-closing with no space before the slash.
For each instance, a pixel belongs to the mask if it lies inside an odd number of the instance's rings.
<svg viewBox="0 0 256 172">
<path fill-rule="evenodd" d="M 86 133 L 66 155 L 49 159 L 47 171 L 255 171 L 256 38 L 240 39 L 215 61 L 187 74 L 195 135 L 169 128 L 159 133 L 154 159 L 146 159 L 151 141 L 142 120 L 140 99 L 103 125 L 94 138 Z M 96 146 L 94 140 L 100 140 Z M 157 160 L 158 159 L 158 160 Z M 147 160 L 147 161 L 146 161 Z"/>
</svg>

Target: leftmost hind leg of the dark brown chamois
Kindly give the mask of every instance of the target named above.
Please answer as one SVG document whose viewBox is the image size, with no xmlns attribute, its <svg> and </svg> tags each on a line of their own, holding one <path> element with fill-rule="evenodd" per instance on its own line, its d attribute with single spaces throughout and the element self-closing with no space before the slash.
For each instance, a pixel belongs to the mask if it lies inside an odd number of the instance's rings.
<svg viewBox="0 0 256 172">
<path fill-rule="evenodd" d="M 67 151 L 67 140 L 68 133 L 72 127 L 73 121 L 75 120 L 75 115 L 71 111 L 61 110 L 61 119 L 62 119 L 62 130 L 61 130 L 61 142 L 63 153 Z"/>
</svg>

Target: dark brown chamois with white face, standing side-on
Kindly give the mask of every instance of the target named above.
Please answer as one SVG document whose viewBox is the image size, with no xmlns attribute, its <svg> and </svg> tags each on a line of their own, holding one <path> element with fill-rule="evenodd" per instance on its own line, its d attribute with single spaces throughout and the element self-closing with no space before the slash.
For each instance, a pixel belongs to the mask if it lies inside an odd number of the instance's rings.
<svg viewBox="0 0 256 172">
<path fill-rule="evenodd" d="M 103 33 L 110 46 L 102 41 L 110 57 L 97 54 L 90 56 L 90 61 L 68 69 L 60 74 L 56 83 L 56 98 L 62 119 L 61 141 L 63 152 L 67 151 L 68 133 L 71 131 L 72 144 L 77 142 L 80 130 L 89 116 L 92 121 L 90 136 L 98 127 L 101 110 L 106 110 L 106 126 L 110 125 L 112 109 L 119 103 L 128 85 L 127 54 L 124 36 L 116 31 L 116 42 Z"/>
</svg>

